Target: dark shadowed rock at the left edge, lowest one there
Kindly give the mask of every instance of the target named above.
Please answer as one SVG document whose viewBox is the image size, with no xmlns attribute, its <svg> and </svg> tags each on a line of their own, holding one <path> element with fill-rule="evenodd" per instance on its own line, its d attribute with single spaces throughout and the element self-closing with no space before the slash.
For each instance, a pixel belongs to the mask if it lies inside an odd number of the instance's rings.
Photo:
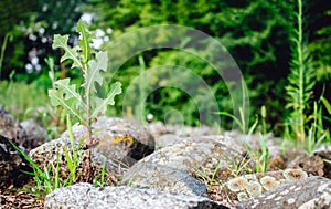
<svg viewBox="0 0 331 209">
<path fill-rule="evenodd" d="M 11 185 L 20 187 L 32 178 L 22 170 L 32 171 L 29 161 L 12 146 L 9 138 L 0 135 L 0 191 Z"/>
</svg>

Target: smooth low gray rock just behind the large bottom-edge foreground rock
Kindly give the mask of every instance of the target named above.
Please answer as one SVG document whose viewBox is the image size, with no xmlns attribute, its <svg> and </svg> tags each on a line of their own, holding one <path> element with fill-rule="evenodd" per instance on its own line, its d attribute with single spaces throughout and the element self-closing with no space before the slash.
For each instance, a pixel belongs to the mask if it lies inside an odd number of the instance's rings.
<svg viewBox="0 0 331 209">
<path fill-rule="evenodd" d="M 204 182 L 181 170 L 158 164 L 132 166 L 122 177 L 121 185 L 151 188 L 172 194 L 205 196 Z"/>
</svg>

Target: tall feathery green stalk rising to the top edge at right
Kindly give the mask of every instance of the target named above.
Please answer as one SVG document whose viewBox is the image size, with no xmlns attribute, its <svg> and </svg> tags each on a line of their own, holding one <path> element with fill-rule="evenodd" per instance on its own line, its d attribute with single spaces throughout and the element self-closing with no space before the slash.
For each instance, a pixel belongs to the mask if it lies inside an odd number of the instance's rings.
<svg viewBox="0 0 331 209">
<path fill-rule="evenodd" d="M 287 124 L 290 137 L 305 145 L 307 140 L 307 111 L 312 100 L 312 88 L 316 84 L 316 74 L 311 58 L 303 38 L 303 6 L 302 0 L 297 1 L 296 27 L 292 35 L 292 59 L 290 63 L 289 85 L 286 86 L 290 112 Z"/>
</svg>

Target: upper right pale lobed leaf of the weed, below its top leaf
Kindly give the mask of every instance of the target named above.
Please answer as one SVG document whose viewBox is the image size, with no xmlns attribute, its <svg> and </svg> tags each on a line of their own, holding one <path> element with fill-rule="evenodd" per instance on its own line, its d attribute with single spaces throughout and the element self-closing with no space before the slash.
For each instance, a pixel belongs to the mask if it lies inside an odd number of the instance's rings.
<svg viewBox="0 0 331 209">
<path fill-rule="evenodd" d="M 98 52 L 96 60 L 88 61 L 88 71 L 84 75 L 84 84 L 86 92 L 97 92 L 94 83 L 103 84 L 100 71 L 107 71 L 108 54 L 107 52 Z"/>
</svg>

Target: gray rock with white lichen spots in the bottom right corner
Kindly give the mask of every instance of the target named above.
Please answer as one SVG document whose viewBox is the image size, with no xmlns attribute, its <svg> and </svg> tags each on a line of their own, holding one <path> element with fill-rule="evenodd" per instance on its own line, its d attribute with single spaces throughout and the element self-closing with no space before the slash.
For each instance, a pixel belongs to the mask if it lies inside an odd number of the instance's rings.
<svg viewBox="0 0 331 209">
<path fill-rule="evenodd" d="M 275 190 L 265 192 L 256 198 L 242 201 L 237 208 L 255 209 L 295 209 L 319 208 L 316 203 L 330 208 L 331 180 L 323 177 L 308 177 L 284 184 Z M 329 195 L 328 195 L 329 194 Z"/>
</svg>

